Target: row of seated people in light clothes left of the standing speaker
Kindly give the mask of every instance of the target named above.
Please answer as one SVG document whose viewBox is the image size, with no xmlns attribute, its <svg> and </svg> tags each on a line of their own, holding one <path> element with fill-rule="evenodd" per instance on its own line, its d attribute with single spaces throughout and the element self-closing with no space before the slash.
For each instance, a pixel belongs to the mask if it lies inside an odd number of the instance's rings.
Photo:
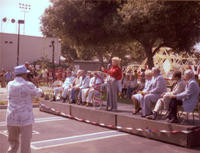
<svg viewBox="0 0 200 153">
<path fill-rule="evenodd" d="M 60 87 L 54 88 L 52 101 L 56 101 L 58 93 L 61 93 L 62 102 L 93 105 L 94 95 L 101 91 L 104 83 L 103 73 L 99 71 L 78 70 L 76 73 L 68 70 L 66 79 Z"/>
</svg>

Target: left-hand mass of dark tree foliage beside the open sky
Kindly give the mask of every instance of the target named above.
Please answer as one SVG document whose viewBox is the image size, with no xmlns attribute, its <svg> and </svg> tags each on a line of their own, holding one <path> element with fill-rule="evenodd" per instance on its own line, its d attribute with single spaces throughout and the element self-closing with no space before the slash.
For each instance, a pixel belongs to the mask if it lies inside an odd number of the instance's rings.
<svg viewBox="0 0 200 153">
<path fill-rule="evenodd" d="M 56 35 L 76 48 L 80 58 L 97 56 L 103 61 L 108 44 L 113 44 L 120 21 L 121 0 L 51 0 L 42 16 L 41 31 Z M 106 53 L 105 53 L 106 54 Z M 87 56 L 89 55 L 89 56 Z"/>
</svg>

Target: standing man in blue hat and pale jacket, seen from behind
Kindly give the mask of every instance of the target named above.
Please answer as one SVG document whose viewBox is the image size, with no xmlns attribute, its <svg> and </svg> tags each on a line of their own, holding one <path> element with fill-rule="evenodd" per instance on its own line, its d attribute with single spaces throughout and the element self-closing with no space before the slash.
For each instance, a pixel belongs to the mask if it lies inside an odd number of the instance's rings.
<svg viewBox="0 0 200 153">
<path fill-rule="evenodd" d="M 17 153 L 19 135 L 21 135 L 21 153 L 30 153 L 32 124 L 34 123 L 32 97 L 41 96 L 42 90 L 32 82 L 26 81 L 30 71 L 24 65 L 16 66 L 14 72 L 15 79 L 8 83 L 6 121 L 9 148 L 7 153 Z"/>
</svg>

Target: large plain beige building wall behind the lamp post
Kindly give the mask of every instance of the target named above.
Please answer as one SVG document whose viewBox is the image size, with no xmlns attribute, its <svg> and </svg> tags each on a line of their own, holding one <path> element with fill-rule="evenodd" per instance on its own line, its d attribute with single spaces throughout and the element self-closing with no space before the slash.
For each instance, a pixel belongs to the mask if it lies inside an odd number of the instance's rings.
<svg viewBox="0 0 200 153">
<path fill-rule="evenodd" d="M 41 57 L 52 60 L 51 41 L 55 41 L 55 63 L 59 62 L 61 46 L 56 38 L 20 35 L 19 64 Z M 12 69 L 17 64 L 17 35 L 0 33 L 0 69 Z"/>
</svg>

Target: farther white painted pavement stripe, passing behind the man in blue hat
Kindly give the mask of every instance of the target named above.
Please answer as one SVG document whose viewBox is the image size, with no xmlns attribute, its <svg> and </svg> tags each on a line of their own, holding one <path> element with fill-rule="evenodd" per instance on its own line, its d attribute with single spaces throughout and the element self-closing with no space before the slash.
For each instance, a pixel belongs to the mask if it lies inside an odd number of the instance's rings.
<svg viewBox="0 0 200 153">
<path fill-rule="evenodd" d="M 35 118 L 35 123 L 43 123 L 43 122 L 51 122 L 51 121 L 61 121 L 61 120 L 69 120 L 64 117 L 42 117 L 42 118 Z M 6 121 L 0 122 L 0 127 L 6 126 Z"/>
</svg>

